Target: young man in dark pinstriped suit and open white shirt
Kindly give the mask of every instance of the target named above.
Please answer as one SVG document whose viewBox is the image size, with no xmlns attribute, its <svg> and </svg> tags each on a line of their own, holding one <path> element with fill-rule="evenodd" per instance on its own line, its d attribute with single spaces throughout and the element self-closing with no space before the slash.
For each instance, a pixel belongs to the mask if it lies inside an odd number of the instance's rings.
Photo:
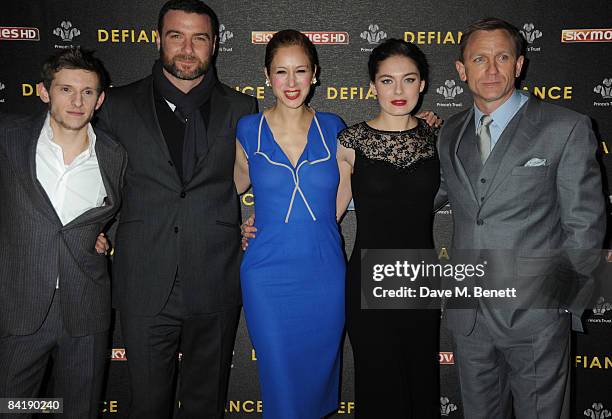
<svg viewBox="0 0 612 419">
<path fill-rule="evenodd" d="M 108 85 L 98 59 L 64 50 L 42 75 L 48 111 L 0 123 L 0 397 L 38 396 L 51 359 L 64 417 L 95 418 L 111 292 L 94 246 L 127 155 L 89 123 Z"/>
</svg>

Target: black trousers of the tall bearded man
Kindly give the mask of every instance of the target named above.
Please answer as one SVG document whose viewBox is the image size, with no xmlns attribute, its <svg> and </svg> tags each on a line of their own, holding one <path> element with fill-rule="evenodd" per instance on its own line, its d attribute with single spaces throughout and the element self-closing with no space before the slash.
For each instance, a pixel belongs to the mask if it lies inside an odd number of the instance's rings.
<svg viewBox="0 0 612 419">
<path fill-rule="evenodd" d="M 222 418 L 240 307 L 215 313 L 185 313 L 178 279 L 156 316 L 121 313 L 130 377 L 131 419 L 167 419 L 177 405 L 181 418 Z"/>
</svg>

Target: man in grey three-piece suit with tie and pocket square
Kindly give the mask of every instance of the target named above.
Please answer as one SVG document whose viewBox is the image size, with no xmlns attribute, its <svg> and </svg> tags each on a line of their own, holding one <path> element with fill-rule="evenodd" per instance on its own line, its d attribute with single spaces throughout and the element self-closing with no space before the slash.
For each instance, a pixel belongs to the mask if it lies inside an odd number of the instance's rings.
<svg viewBox="0 0 612 419">
<path fill-rule="evenodd" d="M 604 235 L 590 120 L 515 90 L 522 50 L 519 31 L 505 21 L 467 28 L 456 67 L 474 107 L 449 118 L 439 137 L 436 202 L 451 205 L 453 247 L 496 259 L 488 278 L 523 293 L 520 308 L 481 299 L 447 310 L 469 419 L 507 417 L 510 393 L 519 419 L 560 417 L 570 327 L 581 330 L 584 286 L 597 259 L 571 252 L 599 249 Z M 565 295 L 560 251 L 582 278 Z"/>
</svg>

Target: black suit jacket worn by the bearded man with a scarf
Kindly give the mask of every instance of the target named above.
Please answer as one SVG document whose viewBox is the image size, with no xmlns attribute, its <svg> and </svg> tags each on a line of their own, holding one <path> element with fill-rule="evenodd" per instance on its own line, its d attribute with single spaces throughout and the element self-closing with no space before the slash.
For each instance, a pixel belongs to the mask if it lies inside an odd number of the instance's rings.
<svg viewBox="0 0 612 419">
<path fill-rule="evenodd" d="M 209 151 L 183 184 L 157 120 L 152 78 L 107 92 L 98 126 L 129 155 L 113 256 L 113 305 L 122 312 L 159 313 L 177 273 L 191 314 L 241 303 L 235 131 L 257 102 L 221 83 L 210 100 Z"/>
</svg>

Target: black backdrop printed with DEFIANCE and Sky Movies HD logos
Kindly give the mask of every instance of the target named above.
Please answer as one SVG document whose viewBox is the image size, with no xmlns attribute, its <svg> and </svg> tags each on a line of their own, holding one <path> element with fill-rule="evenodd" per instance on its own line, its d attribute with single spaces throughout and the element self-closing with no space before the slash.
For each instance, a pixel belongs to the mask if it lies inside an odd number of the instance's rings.
<svg viewBox="0 0 612 419">
<path fill-rule="evenodd" d="M 301 30 L 317 45 L 321 63 L 320 84 L 311 105 L 337 113 L 348 125 L 376 113 L 366 63 L 372 49 L 391 37 L 418 44 L 429 59 L 431 77 L 422 109 L 448 118 L 472 106 L 469 90 L 455 72 L 461 30 L 485 16 L 506 19 L 521 29 L 527 42 L 527 66 L 520 88 L 589 115 L 600 145 L 606 185 L 612 179 L 612 9 L 608 0 L 208 3 L 221 22 L 216 60 L 221 81 L 256 97 L 260 109 L 270 106 L 273 98 L 264 85 L 263 74 L 265 44 L 275 31 Z M 39 69 L 44 58 L 58 49 L 80 45 L 96 50 L 115 86 L 148 75 L 158 55 L 155 28 L 162 4 L 162 0 L 4 3 L 0 12 L 0 112 L 44 109 L 37 98 Z M 246 215 L 254 197 L 245 194 L 242 204 Z M 345 217 L 342 232 L 350 254 L 355 235 L 353 213 Z M 452 210 L 447 207 L 436 218 L 438 245 L 449 244 L 451 232 Z M 596 299 L 595 309 L 586 318 L 587 333 L 573 339 L 573 418 L 612 416 L 612 298 L 601 295 Z M 121 418 L 127 417 L 129 390 L 127 360 L 116 320 L 109 348 L 108 384 L 100 411 L 103 417 Z M 444 329 L 440 334 L 440 413 L 459 419 L 463 415 L 452 343 Z M 414 344 L 419 344 L 418 339 Z M 353 417 L 358 409 L 353 399 L 352 362 L 347 341 L 341 403 L 334 417 Z M 396 402 L 389 400 L 390 404 Z M 226 416 L 258 418 L 263 409 L 257 354 L 241 321 Z"/>
</svg>

